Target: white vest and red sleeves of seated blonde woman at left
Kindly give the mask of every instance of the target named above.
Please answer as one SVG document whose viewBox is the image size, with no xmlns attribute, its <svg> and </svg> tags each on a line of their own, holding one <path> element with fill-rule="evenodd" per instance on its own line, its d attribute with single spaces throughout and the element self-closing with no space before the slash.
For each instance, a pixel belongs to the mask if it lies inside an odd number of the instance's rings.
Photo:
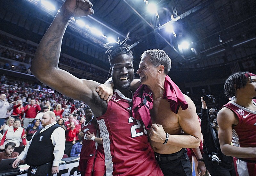
<svg viewBox="0 0 256 176">
<path fill-rule="evenodd" d="M 21 140 L 21 136 L 25 135 L 25 130 L 22 127 L 19 128 L 13 128 L 13 126 L 9 127 L 5 133 L 4 136 L 1 140 L 0 145 L 4 145 L 10 142 L 13 142 L 16 144 L 15 147 L 19 147 L 20 146 L 20 140 Z M 24 145 L 27 144 L 26 139 L 22 139 L 22 142 Z"/>
</svg>

